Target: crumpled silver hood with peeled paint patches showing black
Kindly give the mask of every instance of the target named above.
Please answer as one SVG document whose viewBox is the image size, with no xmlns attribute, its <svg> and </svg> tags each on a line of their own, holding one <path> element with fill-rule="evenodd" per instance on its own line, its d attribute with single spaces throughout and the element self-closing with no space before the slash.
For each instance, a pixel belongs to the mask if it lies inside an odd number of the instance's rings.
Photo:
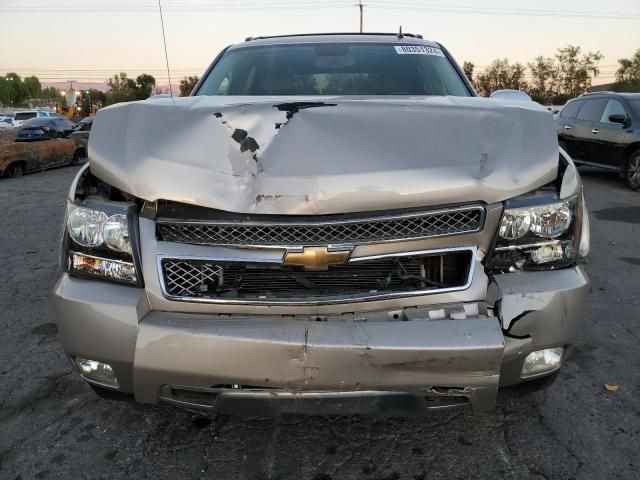
<svg viewBox="0 0 640 480">
<path fill-rule="evenodd" d="M 98 112 L 91 172 L 146 200 L 329 214 L 499 202 L 552 181 L 552 116 L 487 98 L 187 97 Z"/>
</svg>

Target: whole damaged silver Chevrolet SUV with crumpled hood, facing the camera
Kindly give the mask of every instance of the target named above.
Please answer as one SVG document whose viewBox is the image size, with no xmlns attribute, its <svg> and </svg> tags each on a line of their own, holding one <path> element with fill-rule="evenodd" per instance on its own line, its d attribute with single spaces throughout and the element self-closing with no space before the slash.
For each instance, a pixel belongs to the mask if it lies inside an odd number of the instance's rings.
<svg viewBox="0 0 640 480">
<path fill-rule="evenodd" d="M 99 392 L 227 413 L 491 408 L 571 354 L 582 184 L 533 102 L 413 35 L 254 38 L 102 109 L 55 304 Z"/>
</svg>

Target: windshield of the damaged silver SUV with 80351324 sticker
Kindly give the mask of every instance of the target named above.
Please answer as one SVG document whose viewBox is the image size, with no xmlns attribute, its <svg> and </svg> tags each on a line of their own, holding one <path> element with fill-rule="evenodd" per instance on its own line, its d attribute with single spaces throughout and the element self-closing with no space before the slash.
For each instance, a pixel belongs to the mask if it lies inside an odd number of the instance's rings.
<svg viewBox="0 0 640 480">
<path fill-rule="evenodd" d="M 197 95 L 470 96 L 439 48 L 393 44 L 298 44 L 227 51 Z"/>
</svg>

